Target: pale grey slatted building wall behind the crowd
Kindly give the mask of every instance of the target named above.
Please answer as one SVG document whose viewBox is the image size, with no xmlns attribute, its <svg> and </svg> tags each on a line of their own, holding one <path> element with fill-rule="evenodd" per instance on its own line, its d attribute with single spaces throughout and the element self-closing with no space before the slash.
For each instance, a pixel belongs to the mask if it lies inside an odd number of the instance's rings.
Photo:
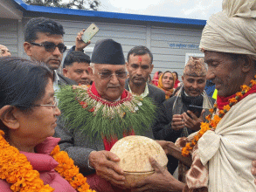
<svg viewBox="0 0 256 192">
<path fill-rule="evenodd" d="M 25 17 L 20 26 L 18 20 L 0 18 L 0 41 L 7 45 L 13 56 L 18 54 L 28 58 L 23 51 L 24 25 L 31 17 Z M 54 19 L 52 17 L 52 19 Z M 77 33 L 86 29 L 90 22 L 79 20 L 55 19 L 62 24 L 65 29 L 64 42 L 67 46 L 74 45 Z M 125 57 L 128 51 L 135 45 L 145 45 L 153 53 L 154 70 L 151 77 L 157 71 L 178 72 L 179 76 L 183 73 L 186 54 L 200 53 L 198 45 L 202 30 L 191 30 L 174 27 L 158 27 L 149 24 L 117 24 L 104 23 L 103 20 L 93 22 L 98 25 L 100 31 L 92 38 L 92 44 L 88 47 L 93 48 L 95 42 L 101 38 L 113 38 L 121 43 Z M 19 29 L 19 30 L 18 30 Z M 20 50 L 20 51 L 18 51 Z"/>
</svg>

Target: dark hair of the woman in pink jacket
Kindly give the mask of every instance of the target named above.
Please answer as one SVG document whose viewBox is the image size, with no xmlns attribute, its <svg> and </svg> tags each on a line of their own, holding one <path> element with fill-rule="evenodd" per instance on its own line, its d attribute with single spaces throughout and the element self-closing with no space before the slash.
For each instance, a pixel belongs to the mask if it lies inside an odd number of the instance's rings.
<svg viewBox="0 0 256 192">
<path fill-rule="evenodd" d="M 45 95 L 52 72 L 45 65 L 24 58 L 0 58 L 0 108 L 17 106 L 29 111 Z"/>
</svg>

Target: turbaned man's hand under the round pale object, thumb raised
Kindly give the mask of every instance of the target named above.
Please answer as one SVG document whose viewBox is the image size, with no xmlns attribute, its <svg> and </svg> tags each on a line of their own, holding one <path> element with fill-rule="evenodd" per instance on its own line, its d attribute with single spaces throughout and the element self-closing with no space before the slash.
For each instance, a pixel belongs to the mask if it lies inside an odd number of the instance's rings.
<svg viewBox="0 0 256 192">
<path fill-rule="evenodd" d="M 162 168 L 155 159 L 149 157 L 155 173 L 144 180 L 132 184 L 132 192 L 141 191 L 177 191 L 184 188 L 184 183 L 177 181 L 170 173 Z"/>
</svg>

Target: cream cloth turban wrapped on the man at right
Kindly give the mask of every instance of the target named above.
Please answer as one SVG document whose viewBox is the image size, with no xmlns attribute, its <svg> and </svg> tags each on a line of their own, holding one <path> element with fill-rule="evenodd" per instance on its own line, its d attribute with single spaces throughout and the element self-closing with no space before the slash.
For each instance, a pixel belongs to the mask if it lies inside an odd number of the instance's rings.
<svg viewBox="0 0 256 192">
<path fill-rule="evenodd" d="M 256 1 L 224 0 L 222 9 L 207 21 L 199 48 L 256 56 Z"/>
</svg>

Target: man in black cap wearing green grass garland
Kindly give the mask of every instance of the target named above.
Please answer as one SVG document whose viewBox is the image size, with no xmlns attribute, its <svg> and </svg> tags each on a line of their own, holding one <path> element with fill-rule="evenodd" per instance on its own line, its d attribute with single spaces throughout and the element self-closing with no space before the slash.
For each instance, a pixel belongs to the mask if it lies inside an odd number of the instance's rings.
<svg viewBox="0 0 256 192">
<path fill-rule="evenodd" d="M 120 159 L 109 152 L 118 139 L 152 132 L 155 106 L 147 98 L 124 89 L 127 71 L 121 45 L 112 39 L 96 42 L 89 73 L 92 86 L 66 86 L 59 92 L 59 108 L 68 122 L 59 122 L 59 146 L 73 158 L 92 189 L 122 191 Z M 96 172 L 96 174 L 93 174 Z"/>
</svg>

